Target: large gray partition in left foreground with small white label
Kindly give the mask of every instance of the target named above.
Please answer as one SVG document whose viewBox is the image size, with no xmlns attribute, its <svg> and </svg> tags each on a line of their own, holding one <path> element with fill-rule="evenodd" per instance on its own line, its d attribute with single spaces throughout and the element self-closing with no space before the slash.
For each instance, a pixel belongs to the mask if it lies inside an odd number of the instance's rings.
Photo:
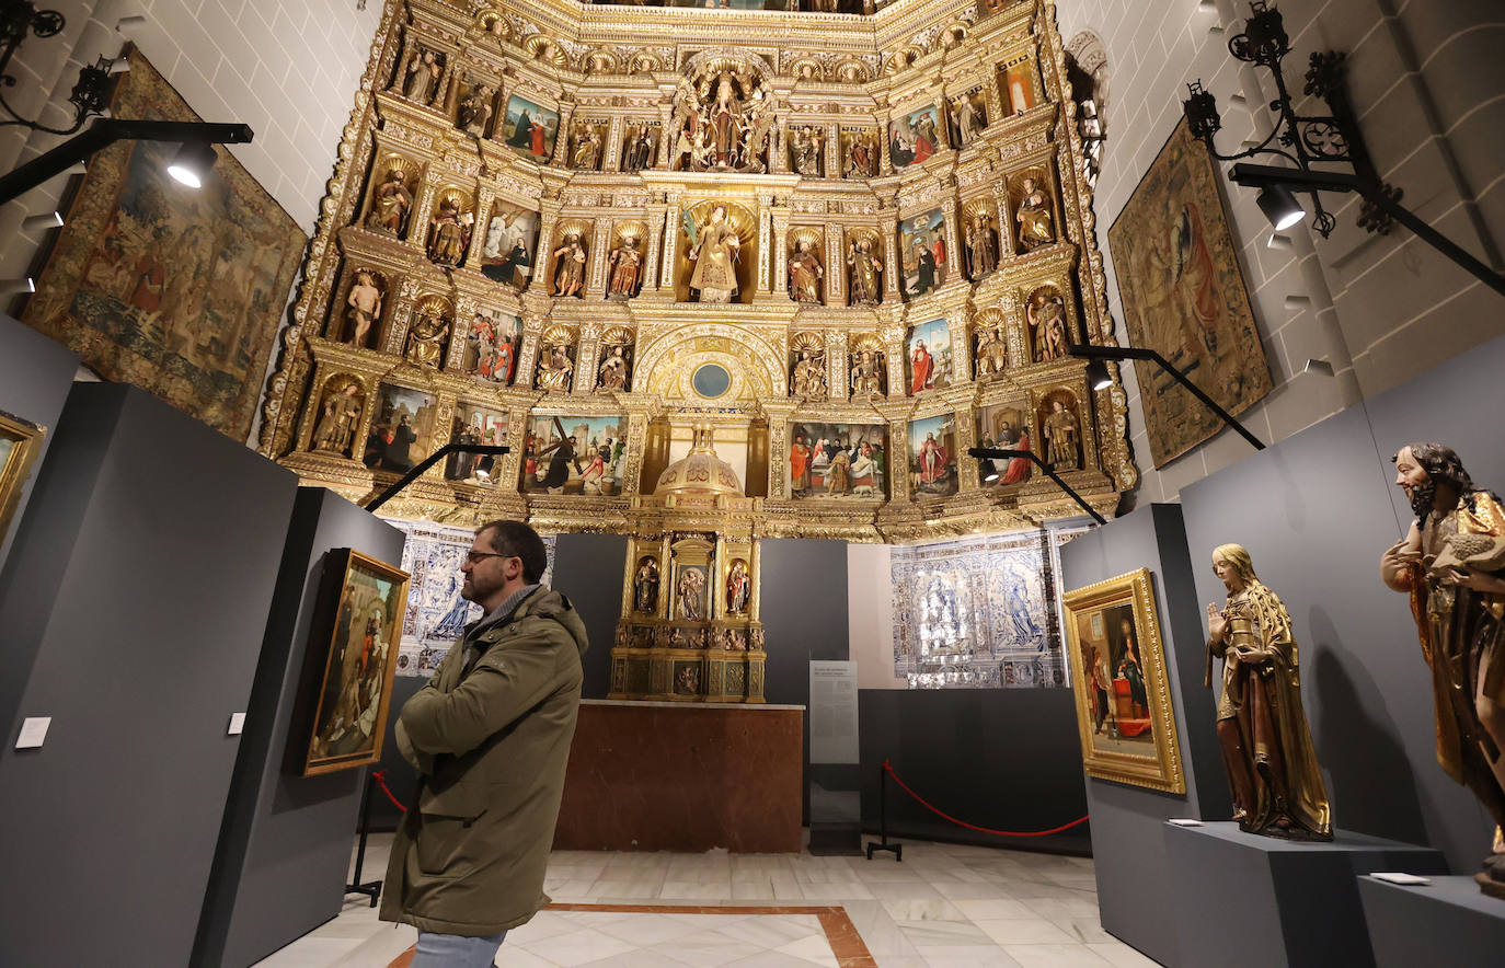
<svg viewBox="0 0 1505 968">
<path fill-rule="evenodd" d="M 188 963 L 296 486 L 74 385 L 0 572 L 8 965 Z M 15 750 L 23 717 L 51 717 L 42 748 Z"/>
</svg>

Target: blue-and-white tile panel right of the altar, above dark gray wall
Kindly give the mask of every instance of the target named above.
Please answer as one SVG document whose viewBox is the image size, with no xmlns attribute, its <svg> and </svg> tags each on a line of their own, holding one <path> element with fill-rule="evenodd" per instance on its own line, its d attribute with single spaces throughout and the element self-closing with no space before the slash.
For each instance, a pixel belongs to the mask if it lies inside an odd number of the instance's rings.
<svg viewBox="0 0 1505 968">
<path fill-rule="evenodd" d="M 1055 536 L 895 546 L 894 674 L 911 688 L 1064 686 Z"/>
</svg>

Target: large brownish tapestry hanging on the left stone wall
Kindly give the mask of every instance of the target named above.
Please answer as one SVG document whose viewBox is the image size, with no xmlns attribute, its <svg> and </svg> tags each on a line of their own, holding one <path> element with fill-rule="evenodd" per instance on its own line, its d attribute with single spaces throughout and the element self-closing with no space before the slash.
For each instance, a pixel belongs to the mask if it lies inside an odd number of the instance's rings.
<svg viewBox="0 0 1505 968">
<path fill-rule="evenodd" d="M 140 51 L 114 117 L 199 120 Z M 245 440 L 309 236 L 224 148 L 199 190 L 176 146 L 117 142 L 89 161 L 21 321 L 128 382 Z"/>
</svg>

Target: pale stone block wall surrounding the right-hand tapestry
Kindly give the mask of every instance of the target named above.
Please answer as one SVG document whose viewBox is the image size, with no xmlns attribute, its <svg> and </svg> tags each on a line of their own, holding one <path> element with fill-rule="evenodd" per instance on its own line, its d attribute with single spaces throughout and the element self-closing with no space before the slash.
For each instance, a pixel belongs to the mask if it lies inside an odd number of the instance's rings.
<svg viewBox="0 0 1505 968">
<path fill-rule="evenodd" d="M 1347 51 L 1350 96 L 1380 175 L 1404 190 L 1404 205 L 1497 266 L 1505 244 L 1505 62 L 1491 53 L 1505 32 L 1497 5 L 1475 0 L 1434 11 L 1434 5 L 1373 0 L 1285 0 L 1278 6 L 1291 35 L 1285 69 L 1297 107 L 1324 113 L 1312 110 L 1320 102 L 1300 104 L 1308 54 Z M 1221 151 L 1240 151 L 1242 139 L 1258 140 L 1267 131 L 1260 126 L 1267 114 L 1260 105 L 1275 96 L 1269 74 L 1236 62 L 1227 50 L 1248 15 L 1248 3 L 1236 0 L 1218 0 L 1215 9 L 1192 0 L 1081 0 L 1057 8 L 1069 48 L 1090 30 L 1106 51 L 1106 65 L 1093 71 L 1103 87 L 1097 107 L 1106 137 L 1093 211 L 1120 343 L 1126 342 L 1120 274 L 1127 269 L 1112 251 L 1108 227 L 1180 120 L 1186 83 L 1199 78 L 1218 95 Z M 1410 232 L 1397 227 L 1380 236 L 1359 229 L 1358 197 L 1324 196 L 1338 218 L 1329 239 L 1297 226 L 1282 233 L 1290 244 L 1272 247 L 1257 193 L 1224 182 L 1222 194 L 1275 382 L 1240 417 L 1261 440 L 1290 437 L 1505 328 L 1499 297 Z M 1330 360 L 1338 378 L 1303 372 L 1308 358 Z M 1142 461 L 1150 450 L 1133 367 L 1123 369 L 1123 379 Z M 1181 488 L 1246 455 L 1245 441 L 1225 432 L 1159 470 L 1144 462 L 1133 500 L 1174 500 Z"/>
</svg>

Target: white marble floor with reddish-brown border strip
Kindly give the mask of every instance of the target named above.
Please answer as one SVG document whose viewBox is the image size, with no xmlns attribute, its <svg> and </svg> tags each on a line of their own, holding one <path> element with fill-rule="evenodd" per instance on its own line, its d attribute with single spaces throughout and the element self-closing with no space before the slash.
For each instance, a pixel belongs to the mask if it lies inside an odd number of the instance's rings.
<svg viewBox="0 0 1505 968">
<path fill-rule="evenodd" d="M 837 968 L 814 914 L 695 914 L 697 906 L 840 906 L 879 968 L 1138 968 L 1154 965 L 1102 930 L 1093 861 L 903 842 L 905 860 L 810 854 L 557 851 L 545 890 L 560 903 L 683 906 L 542 911 L 507 935 L 501 968 Z M 366 876 L 385 867 L 372 839 Z M 385 968 L 417 932 L 364 897 L 257 968 Z M 841 962 L 856 963 L 856 962 Z"/>
</svg>

